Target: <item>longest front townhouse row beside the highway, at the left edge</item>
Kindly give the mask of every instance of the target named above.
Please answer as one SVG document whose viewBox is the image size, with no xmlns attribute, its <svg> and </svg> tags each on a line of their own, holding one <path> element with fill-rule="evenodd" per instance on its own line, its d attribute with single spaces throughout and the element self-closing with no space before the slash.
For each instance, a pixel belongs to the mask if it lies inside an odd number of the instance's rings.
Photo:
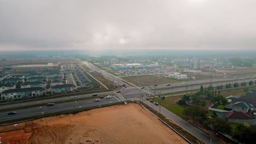
<svg viewBox="0 0 256 144">
<path fill-rule="evenodd" d="M 1 99 L 22 99 L 45 95 L 42 87 L 8 89 L 2 92 Z"/>
</svg>

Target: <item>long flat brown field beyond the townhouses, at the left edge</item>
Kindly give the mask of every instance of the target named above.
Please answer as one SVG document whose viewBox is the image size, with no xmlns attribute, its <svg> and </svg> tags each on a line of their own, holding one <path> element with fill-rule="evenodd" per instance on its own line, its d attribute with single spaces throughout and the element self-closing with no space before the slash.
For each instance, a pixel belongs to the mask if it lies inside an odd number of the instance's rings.
<svg viewBox="0 0 256 144">
<path fill-rule="evenodd" d="M 64 58 L 64 59 L 17 59 L 17 60 L 0 60 L 0 67 L 12 66 L 18 64 L 47 64 L 47 63 L 69 63 L 79 62 L 79 59 Z"/>
</svg>

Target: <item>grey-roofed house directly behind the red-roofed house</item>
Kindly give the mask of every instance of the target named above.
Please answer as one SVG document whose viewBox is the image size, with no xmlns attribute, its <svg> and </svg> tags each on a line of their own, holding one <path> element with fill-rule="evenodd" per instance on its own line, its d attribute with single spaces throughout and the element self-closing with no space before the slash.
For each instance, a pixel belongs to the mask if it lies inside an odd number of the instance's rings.
<svg viewBox="0 0 256 144">
<path fill-rule="evenodd" d="M 234 104 L 232 104 L 232 110 L 233 111 L 241 111 L 245 113 L 252 113 L 253 112 L 253 105 L 247 104 L 246 102 L 243 101 L 238 101 Z"/>
</svg>

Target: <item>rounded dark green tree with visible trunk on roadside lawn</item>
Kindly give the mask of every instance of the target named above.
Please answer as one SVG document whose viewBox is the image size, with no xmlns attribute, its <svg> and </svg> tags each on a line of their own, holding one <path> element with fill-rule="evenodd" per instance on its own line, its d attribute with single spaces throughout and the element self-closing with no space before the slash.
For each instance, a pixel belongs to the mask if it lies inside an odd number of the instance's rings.
<svg viewBox="0 0 256 144">
<path fill-rule="evenodd" d="M 196 116 L 202 116 L 205 114 L 205 110 L 203 110 L 200 105 L 191 105 L 186 107 L 183 113 L 185 115 L 191 116 L 194 122 Z"/>
</svg>

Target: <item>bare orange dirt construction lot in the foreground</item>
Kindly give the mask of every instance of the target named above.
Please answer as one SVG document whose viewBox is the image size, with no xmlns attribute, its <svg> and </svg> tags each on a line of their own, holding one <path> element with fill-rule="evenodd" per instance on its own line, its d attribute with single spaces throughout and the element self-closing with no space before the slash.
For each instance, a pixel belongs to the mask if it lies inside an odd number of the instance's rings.
<svg viewBox="0 0 256 144">
<path fill-rule="evenodd" d="M 0 137 L 5 143 L 187 143 L 138 104 L 6 125 Z"/>
</svg>

